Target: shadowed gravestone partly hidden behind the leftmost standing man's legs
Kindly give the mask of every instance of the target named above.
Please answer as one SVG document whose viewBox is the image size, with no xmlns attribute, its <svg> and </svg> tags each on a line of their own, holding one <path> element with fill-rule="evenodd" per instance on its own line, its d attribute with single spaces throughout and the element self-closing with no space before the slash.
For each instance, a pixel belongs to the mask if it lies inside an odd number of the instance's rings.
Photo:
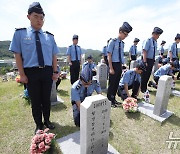
<svg viewBox="0 0 180 154">
<path fill-rule="evenodd" d="M 51 101 L 51 105 L 56 105 L 56 104 L 64 102 L 59 96 L 57 96 L 56 81 L 54 81 L 54 80 L 53 80 L 53 84 L 52 84 L 52 88 L 51 88 L 50 101 Z"/>
</svg>

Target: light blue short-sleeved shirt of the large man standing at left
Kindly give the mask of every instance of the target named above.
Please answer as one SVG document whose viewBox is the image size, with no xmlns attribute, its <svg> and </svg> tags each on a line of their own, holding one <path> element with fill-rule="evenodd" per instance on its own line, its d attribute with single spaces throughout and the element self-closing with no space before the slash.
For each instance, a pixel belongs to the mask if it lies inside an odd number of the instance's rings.
<svg viewBox="0 0 180 154">
<path fill-rule="evenodd" d="M 43 32 L 42 29 L 39 30 L 38 35 L 41 41 L 44 64 L 52 66 L 53 55 L 59 52 L 54 36 L 49 32 Z M 35 30 L 32 27 L 16 30 L 9 50 L 22 55 L 24 68 L 39 66 Z"/>
</svg>

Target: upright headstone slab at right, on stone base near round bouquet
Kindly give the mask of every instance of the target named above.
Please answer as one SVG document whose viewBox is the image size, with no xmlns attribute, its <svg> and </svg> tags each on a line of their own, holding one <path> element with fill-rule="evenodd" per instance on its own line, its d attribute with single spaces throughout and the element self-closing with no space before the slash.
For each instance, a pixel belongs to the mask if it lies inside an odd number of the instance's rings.
<svg viewBox="0 0 180 154">
<path fill-rule="evenodd" d="M 156 100 L 154 105 L 154 114 L 162 115 L 167 110 L 167 105 L 169 101 L 169 96 L 171 93 L 171 83 L 172 77 L 168 75 L 163 75 L 160 77 L 158 82 L 158 88 L 156 92 Z"/>
</svg>

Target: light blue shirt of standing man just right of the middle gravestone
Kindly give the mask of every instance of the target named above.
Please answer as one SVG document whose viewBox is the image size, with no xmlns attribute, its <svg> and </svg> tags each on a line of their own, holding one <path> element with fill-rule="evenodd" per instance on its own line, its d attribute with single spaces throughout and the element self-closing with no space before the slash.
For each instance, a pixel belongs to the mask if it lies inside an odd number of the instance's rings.
<svg viewBox="0 0 180 154">
<path fill-rule="evenodd" d="M 121 45 L 121 60 L 119 59 L 119 42 Z M 121 62 L 124 64 L 124 42 L 117 39 L 112 39 L 109 43 L 108 53 L 112 54 L 112 62 Z"/>
</svg>

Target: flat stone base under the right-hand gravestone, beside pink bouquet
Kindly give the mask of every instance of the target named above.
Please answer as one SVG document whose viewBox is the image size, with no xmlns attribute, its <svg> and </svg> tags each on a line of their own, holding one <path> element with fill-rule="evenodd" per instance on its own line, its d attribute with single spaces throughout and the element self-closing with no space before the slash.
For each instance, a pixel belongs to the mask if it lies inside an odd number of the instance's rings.
<svg viewBox="0 0 180 154">
<path fill-rule="evenodd" d="M 161 116 L 157 116 L 153 114 L 154 105 L 145 102 L 138 103 L 138 111 L 161 123 L 164 122 L 167 118 L 169 118 L 173 114 L 173 112 L 166 110 L 164 114 L 162 114 Z"/>
</svg>

